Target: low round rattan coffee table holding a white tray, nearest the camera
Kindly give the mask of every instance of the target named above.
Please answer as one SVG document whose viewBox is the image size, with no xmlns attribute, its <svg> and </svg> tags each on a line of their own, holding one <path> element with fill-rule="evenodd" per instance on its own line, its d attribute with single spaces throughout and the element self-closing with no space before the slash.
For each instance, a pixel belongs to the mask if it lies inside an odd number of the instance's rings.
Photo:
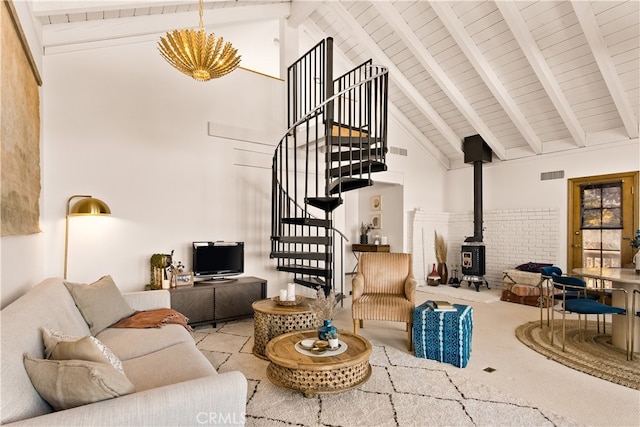
<svg viewBox="0 0 640 427">
<path fill-rule="evenodd" d="M 267 376 L 272 383 L 311 397 L 319 393 L 337 393 L 365 383 L 371 376 L 371 344 L 361 336 L 340 331 L 346 350 L 332 355 L 306 355 L 296 350 L 304 339 L 317 339 L 317 330 L 290 332 L 267 344 Z"/>
</svg>

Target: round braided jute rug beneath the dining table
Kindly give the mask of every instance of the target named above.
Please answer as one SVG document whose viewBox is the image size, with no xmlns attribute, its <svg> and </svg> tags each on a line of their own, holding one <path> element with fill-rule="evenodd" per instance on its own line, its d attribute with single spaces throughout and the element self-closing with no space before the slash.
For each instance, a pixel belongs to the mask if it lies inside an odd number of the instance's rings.
<svg viewBox="0 0 640 427">
<path fill-rule="evenodd" d="M 584 321 L 581 326 L 584 327 Z M 601 325 L 602 326 L 602 325 Z M 607 324 L 611 330 L 611 324 Z M 565 351 L 562 351 L 562 321 L 555 320 L 554 340 L 551 327 L 540 321 L 528 322 L 516 328 L 516 337 L 527 347 L 549 359 L 594 377 L 640 390 L 640 355 L 628 361 L 624 350 L 611 345 L 611 335 L 598 334 L 597 323 L 587 322 L 587 330 L 579 335 L 578 321 L 566 321 Z"/>
</svg>

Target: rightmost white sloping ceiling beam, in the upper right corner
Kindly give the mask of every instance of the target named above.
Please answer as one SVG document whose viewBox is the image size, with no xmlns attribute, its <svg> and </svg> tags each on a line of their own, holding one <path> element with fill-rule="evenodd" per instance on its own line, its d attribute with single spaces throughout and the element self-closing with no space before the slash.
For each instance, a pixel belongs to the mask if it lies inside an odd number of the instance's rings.
<svg viewBox="0 0 640 427">
<path fill-rule="evenodd" d="M 613 102 L 618 109 L 618 114 L 622 119 L 624 128 L 629 134 L 629 138 L 638 137 L 638 121 L 633 114 L 633 108 L 629 103 L 629 98 L 622 87 L 620 76 L 616 70 L 616 66 L 609 55 L 607 44 L 600 32 L 600 26 L 593 14 L 593 9 L 589 2 L 576 2 L 572 1 L 571 6 L 578 17 L 584 36 L 587 38 L 589 47 L 591 48 L 591 54 L 596 59 L 598 67 L 600 68 L 600 74 L 604 79 L 607 89 L 613 98 Z"/>
</svg>

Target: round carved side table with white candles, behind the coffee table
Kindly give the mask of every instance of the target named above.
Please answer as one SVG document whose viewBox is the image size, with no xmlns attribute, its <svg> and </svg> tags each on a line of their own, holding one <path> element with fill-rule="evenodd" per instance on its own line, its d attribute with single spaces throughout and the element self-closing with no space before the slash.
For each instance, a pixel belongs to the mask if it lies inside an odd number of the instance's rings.
<svg viewBox="0 0 640 427">
<path fill-rule="evenodd" d="M 295 306 L 278 305 L 271 299 L 263 299 L 253 307 L 253 354 L 267 359 L 267 343 L 287 332 L 314 329 L 322 325 L 309 307 L 309 298 Z"/>
</svg>

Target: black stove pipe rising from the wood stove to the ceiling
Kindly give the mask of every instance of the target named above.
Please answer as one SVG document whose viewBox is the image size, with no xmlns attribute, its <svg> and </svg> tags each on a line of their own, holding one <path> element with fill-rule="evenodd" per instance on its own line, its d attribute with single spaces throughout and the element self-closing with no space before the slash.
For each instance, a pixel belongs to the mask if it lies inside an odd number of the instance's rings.
<svg viewBox="0 0 640 427">
<path fill-rule="evenodd" d="M 482 242 L 482 164 L 491 162 L 491 148 L 480 135 L 464 138 L 464 162 L 473 163 L 473 236 L 465 242 Z"/>
</svg>

